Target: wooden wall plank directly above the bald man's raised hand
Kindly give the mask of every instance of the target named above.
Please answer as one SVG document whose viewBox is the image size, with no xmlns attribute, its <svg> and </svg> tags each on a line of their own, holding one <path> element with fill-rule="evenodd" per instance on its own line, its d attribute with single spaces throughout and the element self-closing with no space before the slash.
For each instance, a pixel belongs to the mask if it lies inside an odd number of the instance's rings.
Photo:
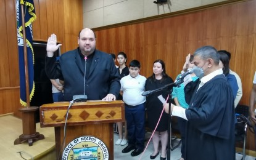
<svg viewBox="0 0 256 160">
<path fill-rule="evenodd" d="M 47 39 L 49 36 L 51 36 L 52 33 L 54 33 L 54 7 L 53 7 L 53 0 L 47 0 L 46 1 L 46 19 L 47 23 L 45 24 L 47 26 Z"/>
</svg>

